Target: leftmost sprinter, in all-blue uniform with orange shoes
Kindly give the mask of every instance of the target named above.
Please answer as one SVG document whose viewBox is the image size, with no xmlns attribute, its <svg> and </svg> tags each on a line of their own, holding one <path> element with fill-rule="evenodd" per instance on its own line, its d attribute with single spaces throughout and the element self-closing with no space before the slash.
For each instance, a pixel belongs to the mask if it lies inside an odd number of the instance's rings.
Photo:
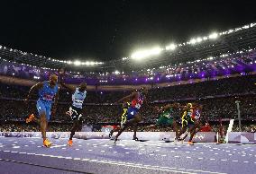
<svg viewBox="0 0 256 174">
<path fill-rule="evenodd" d="M 26 122 L 29 123 L 31 121 L 35 121 L 41 125 L 41 135 L 43 139 L 43 145 L 45 147 L 50 147 L 51 143 L 46 138 L 46 130 L 48 126 L 48 121 L 50 120 L 50 109 L 51 104 L 54 100 L 54 106 L 52 109 L 52 114 L 56 112 L 57 100 L 58 100 L 58 91 L 59 86 L 57 84 L 58 76 L 56 74 L 50 75 L 50 81 L 45 81 L 41 83 L 36 83 L 32 86 L 31 90 L 29 91 L 28 97 L 25 100 L 28 103 L 28 100 L 31 98 L 32 92 L 38 90 L 39 91 L 39 99 L 36 103 L 36 108 L 39 113 L 39 118 L 34 117 L 34 115 L 30 115 Z"/>
</svg>

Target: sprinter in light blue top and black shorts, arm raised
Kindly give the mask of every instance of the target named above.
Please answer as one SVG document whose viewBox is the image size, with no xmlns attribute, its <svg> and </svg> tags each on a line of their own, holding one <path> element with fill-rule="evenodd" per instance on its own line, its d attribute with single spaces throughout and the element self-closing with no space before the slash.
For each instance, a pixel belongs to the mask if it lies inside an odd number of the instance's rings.
<svg viewBox="0 0 256 174">
<path fill-rule="evenodd" d="M 72 146 L 73 136 L 76 132 L 81 131 L 83 126 L 82 109 L 84 100 L 87 97 L 87 83 L 81 83 L 78 88 L 75 88 L 72 85 L 63 83 L 62 74 L 60 74 L 60 84 L 72 92 L 72 106 L 67 112 L 67 114 L 73 120 L 73 126 L 71 128 L 71 134 L 68 142 L 69 146 Z"/>
</svg>

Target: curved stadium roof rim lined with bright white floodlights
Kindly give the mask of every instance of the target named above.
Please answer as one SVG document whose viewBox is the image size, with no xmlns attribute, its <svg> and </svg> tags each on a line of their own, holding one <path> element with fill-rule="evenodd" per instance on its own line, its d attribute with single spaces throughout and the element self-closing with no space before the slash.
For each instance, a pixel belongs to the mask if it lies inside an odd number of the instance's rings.
<svg viewBox="0 0 256 174">
<path fill-rule="evenodd" d="M 58 58 L 33 55 L 13 48 L 0 46 L 0 57 L 19 64 L 58 69 L 66 67 L 72 71 L 115 71 L 130 72 L 142 68 L 152 68 L 160 65 L 172 65 L 187 61 L 195 61 L 207 57 L 219 57 L 237 51 L 256 48 L 256 24 L 251 23 L 233 30 L 212 33 L 208 36 L 196 37 L 187 42 L 171 44 L 144 50 L 148 57 L 123 57 L 106 62 L 82 62 L 80 60 L 59 60 Z"/>
</svg>

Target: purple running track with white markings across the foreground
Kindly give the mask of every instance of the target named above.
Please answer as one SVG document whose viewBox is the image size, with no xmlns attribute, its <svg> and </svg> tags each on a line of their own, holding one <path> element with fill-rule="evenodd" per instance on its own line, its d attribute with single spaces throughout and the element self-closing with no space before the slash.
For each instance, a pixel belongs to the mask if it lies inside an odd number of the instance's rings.
<svg viewBox="0 0 256 174">
<path fill-rule="evenodd" d="M 0 173 L 256 173 L 256 146 L 0 137 Z"/>
</svg>

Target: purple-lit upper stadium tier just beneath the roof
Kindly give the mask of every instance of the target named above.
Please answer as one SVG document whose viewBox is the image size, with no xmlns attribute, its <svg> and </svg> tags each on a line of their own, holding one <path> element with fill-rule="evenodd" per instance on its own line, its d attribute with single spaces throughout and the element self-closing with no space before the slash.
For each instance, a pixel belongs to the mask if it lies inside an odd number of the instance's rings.
<svg viewBox="0 0 256 174">
<path fill-rule="evenodd" d="M 0 59 L 0 74 L 14 76 L 36 81 L 47 80 L 49 74 L 56 70 L 42 69 L 29 65 L 21 65 Z M 130 84 L 155 84 L 178 83 L 197 79 L 211 79 L 216 76 L 232 74 L 251 74 L 256 71 L 256 50 L 237 53 L 231 56 L 208 58 L 193 63 L 162 66 L 148 69 L 146 72 L 114 72 L 97 74 L 95 72 L 66 72 L 66 83 L 81 83 L 88 85 L 130 85 Z"/>
</svg>

